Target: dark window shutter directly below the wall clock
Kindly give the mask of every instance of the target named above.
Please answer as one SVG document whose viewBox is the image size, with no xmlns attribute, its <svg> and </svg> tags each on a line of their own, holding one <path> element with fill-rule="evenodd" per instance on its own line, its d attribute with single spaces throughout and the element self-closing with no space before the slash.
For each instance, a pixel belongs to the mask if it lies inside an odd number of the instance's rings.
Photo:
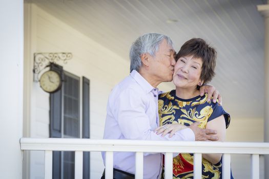
<svg viewBox="0 0 269 179">
<path fill-rule="evenodd" d="M 51 69 L 63 74 L 63 67 L 52 65 Z M 63 77 L 62 77 L 63 79 Z M 50 94 L 50 138 L 61 138 L 61 107 L 62 89 Z M 61 178 L 61 152 L 53 151 L 52 178 Z"/>
</svg>

